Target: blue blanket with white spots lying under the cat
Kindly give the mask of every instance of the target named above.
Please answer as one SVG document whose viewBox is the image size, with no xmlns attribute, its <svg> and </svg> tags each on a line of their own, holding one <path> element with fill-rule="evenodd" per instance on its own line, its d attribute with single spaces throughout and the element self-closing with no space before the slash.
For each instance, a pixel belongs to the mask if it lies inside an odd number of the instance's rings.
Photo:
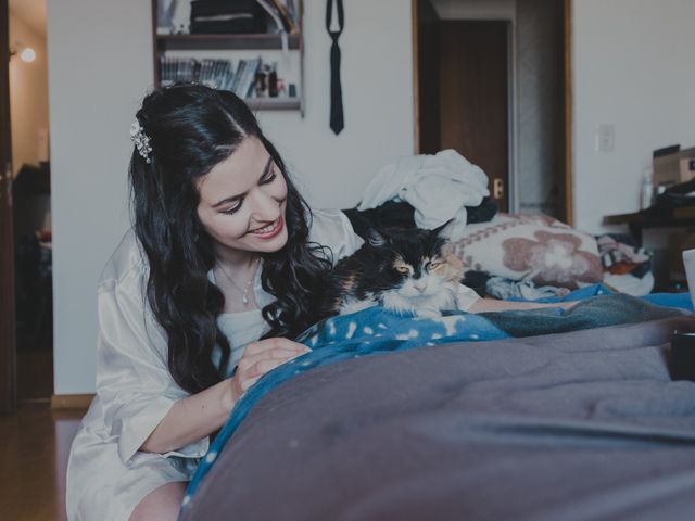
<svg viewBox="0 0 695 521">
<path fill-rule="evenodd" d="M 188 487 L 184 507 L 253 406 L 280 383 L 315 367 L 442 343 L 490 341 L 531 333 L 547 334 L 557 332 L 558 328 L 565 331 L 579 330 L 627 321 L 655 320 L 679 314 L 662 306 L 693 309 L 687 293 L 655 294 L 644 298 L 609 294 L 610 291 L 601 284 L 574 291 L 561 301 L 585 302 L 568 313 L 557 307 L 479 315 L 451 312 L 441 318 L 419 318 L 400 316 L 382 307 L 371 307 L 324 320 L 298 339 L 313 350 L 311 353 L 265 374 L 237 403 L 227 423 L 201 460 Z M 627 317 L 633 319 L 629 320 Z"/>
</svg>

